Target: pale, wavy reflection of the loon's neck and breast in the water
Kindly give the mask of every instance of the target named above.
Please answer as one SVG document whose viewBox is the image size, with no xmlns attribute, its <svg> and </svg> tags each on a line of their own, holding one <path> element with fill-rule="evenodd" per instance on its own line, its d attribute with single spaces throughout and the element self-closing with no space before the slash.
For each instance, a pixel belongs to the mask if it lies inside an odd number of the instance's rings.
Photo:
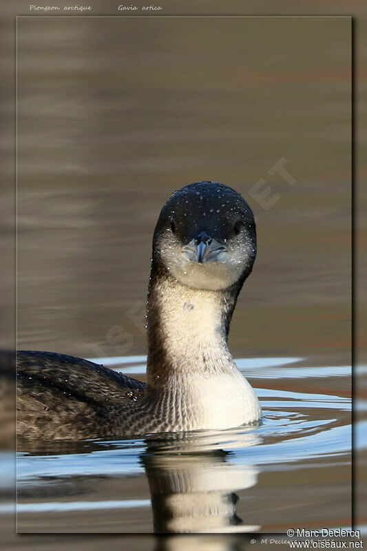
<svg viewBox="0 0 367 551">
<path fill-rule="evenodd" d="M 233 452 L 220 441 L 235 436 L 234 445 L 253 446 L 254 433 L 186 433 L 148 437 L 141 459 L 151 492 L 154 532 L 253 532 L 238 517 L 239 490 L 257 482 L 258 469 L 231 463 Z"/>
</svg>

